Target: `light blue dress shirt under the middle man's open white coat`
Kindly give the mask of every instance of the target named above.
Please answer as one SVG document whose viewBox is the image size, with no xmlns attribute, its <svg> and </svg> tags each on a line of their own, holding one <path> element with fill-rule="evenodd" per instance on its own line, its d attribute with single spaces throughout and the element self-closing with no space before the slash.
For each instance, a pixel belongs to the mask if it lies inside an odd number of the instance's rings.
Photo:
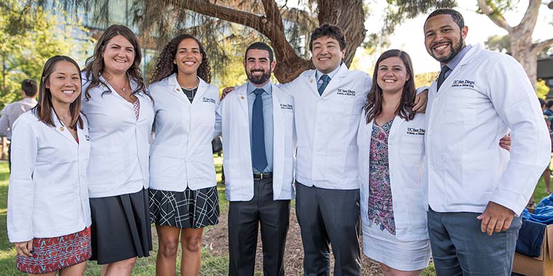
<svg viewBox="0 0 553 276">
<path fill-rule="evenodd" d="M 250 149 L 252 146 L 252 110 L 254 108 L 255 93 L 258 87 L 254 86 L 250 81 L 247 82 L 247 113 L 250 118 Z M 267 155 L 267 167 L 263 172 L 272 172 L 272 141 L 273 141 L 273 121 L 272 121 L 272 83 L 269 81 L 265 86 L 261 87 L 265 92 L 261 94 L 263 99 L 263 126 L 265 128 L 265 155 Z M 253 152 L 252 152 L 253 156 Z M 254 172 L 258 172 L 254 168 Z"/>
</svg>

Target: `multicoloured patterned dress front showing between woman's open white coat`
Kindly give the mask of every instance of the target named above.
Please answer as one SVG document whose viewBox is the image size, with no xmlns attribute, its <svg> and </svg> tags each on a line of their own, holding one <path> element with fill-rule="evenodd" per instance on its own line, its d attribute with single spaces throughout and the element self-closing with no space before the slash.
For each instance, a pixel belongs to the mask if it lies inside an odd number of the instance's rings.
<svg viewBox="0 0 553 276">
<path fill-rule="evenodd" d="M 371 152 L 369 155 L 369 193 L 368 219 L 395 235 L 393 218 L 392 190 L 390 186 L 390 168 L 388 166 L 388 135 L 393 118 L 383 126 L 373 124 Z"/>
</svg>

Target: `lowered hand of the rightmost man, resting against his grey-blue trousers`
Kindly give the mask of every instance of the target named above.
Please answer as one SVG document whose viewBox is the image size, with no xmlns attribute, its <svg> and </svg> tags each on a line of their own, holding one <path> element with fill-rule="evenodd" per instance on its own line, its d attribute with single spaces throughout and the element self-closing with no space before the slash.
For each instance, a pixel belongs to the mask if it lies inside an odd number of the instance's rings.
<svg viewBox="0 0 553 276">
<path fill-rule="evenodd" d="M 482 224 L 480 224 L 482 233 L 485 232 L 491 236 L 494 232 L 499 233 L 511 227 L 514 212 L 505 206 L 489 201 L 484 213 L 476 218 L 482 221 Z"/>
</svg>

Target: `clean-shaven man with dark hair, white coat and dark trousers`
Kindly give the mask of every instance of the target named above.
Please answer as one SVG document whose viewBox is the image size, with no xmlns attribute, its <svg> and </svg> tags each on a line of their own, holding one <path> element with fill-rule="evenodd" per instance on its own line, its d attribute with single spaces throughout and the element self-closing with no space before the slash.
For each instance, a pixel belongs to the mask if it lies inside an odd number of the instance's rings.
<svg viewBox="0 0 553 276">
<path fill-rule="evenodd" d="M 296 213 L 306 276 L 361 275 L 357 126 L 371 77 L 342 63 L 346 41 L 336 26 L 323 25 L 310 37 L 316 70 L 306 70 L 283 87 L 294 97 L 298 137 Z"/>
</svg>

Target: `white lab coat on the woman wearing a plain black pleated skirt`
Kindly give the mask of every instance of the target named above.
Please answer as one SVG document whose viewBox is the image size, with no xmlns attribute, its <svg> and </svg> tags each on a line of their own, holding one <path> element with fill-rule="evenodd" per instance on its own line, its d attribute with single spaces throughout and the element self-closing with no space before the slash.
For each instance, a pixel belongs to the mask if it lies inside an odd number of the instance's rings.
<svg viewBox="0 0 553 276">
<path fill-rule="evenodd" d="M 103 80 L 102 77 L 100 79 Z M 83 95 L 88 86 L 83 73 Z M 133 104 L 115 89 L 100 84 L 91 88 L 89 99 L 82 100 L 88 117 L 91 160 L 88 165 L 88 193 L 91 198 L 138 193 L 149 184 L 149 137 L 153 123 L 153 103 L 139 92 L 138 121 Z M 137 83 L 131 79 L 131 88 Z"/>
</svg>

